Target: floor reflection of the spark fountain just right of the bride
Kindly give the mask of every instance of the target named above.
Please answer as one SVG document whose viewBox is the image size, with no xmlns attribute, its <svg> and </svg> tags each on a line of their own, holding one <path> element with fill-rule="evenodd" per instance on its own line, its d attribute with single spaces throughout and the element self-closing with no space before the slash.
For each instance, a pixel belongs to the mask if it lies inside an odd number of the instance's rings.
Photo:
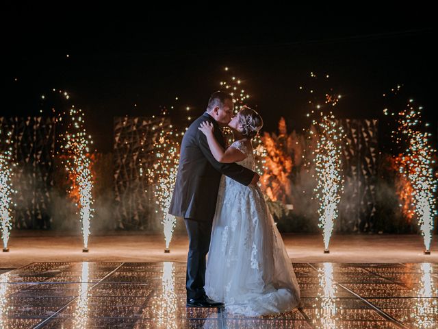
<svg viewBox="0 0 438 329">
<path fill-rule="evenodd" d="M 321 300 L 320 307 L 316 308 L 316 315 L 321 321 L 320 328 L 340 328 L 336 324 L 336 303 L 335 297 L 337 287 L 333 283 L 333 265 L 332 263 L 324 263 L 322 269 L 318 269 L 318 279 L 320 281 L 320 291 L 318 298 Z M 314 305 L 313 307 L 315 307 Z"/>
</svg>

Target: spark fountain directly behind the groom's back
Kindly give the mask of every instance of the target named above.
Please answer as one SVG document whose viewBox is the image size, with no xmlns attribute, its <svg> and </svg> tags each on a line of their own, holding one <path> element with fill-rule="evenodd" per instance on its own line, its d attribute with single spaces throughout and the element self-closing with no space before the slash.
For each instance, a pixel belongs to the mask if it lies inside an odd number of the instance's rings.
<svg viewBox="0 0 438 329">
<path fill-rule="evenodd" d="M 179 143 L 175 138 L 178 138 L 178 134 L 174 134 L 172 130 L 160 132 L 153 147 L 155 162 L 153 167 L 148 169 L 149 181 L 155 184 L 155 198 L 163 214 L 162 224 L 166 249 L 170 245 L 176 224 L 175 216 L 168 213 L 179 164 Z"/>
</svg>

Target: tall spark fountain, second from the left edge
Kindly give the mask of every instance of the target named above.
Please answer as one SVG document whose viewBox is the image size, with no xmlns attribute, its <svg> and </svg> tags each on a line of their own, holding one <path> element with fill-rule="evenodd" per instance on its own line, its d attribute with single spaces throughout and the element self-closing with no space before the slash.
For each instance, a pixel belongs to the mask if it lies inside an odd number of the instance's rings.
<svg viewBox="0 0 438 329">
<path fill-rule="evenodd" d="M 77 204 L 82 223 L 83 246 L 87 249 L 88 236 L 90 235 L 90 220 L 94 212 L 92 208 L 94 202 L 92 198 L 92 163 L 88 148 L 92 141 L 90 141 L 90 136 L 87 136 L 86 130 L 83 128 L 83 112 L 75 110 L 73 106 L 69 114 L 71 123 L 68 125 L 68 132 L 66 132 L 64 137 L 64 140 L 66 140 L 64 149 L 68 153 L 66 169 L 73 184 L 70 188 L 70 196 L 78 201 Z"/>
</svg>

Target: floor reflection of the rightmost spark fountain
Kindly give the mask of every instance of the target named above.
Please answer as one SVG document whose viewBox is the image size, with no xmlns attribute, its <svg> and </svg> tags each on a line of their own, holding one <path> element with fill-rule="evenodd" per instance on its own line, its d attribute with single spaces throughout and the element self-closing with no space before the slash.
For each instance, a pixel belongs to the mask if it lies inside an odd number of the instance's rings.
<svg viewBox="0 0 438 329">
<path fill-rule="evenodd" d="M 422 263 L 421 268 L 422 279 L 411 319 L 416 328 L 437 328 L 438 302 L 433 296 L 437 295 L 438 289 L 434 286 L 431 264 Z"/>
</svg>

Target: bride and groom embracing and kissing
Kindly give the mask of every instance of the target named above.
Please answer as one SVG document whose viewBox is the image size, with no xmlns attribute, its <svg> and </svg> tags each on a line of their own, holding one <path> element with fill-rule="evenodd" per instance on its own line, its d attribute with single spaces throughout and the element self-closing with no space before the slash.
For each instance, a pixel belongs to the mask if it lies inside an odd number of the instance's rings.
<svg viewBox="0 0 438 329">
<path fill-rule="evenodd" d="M 221 127 L 235 141 L 226 146 Z M 187 306 L 257 317 L 300 306 L 292 263 L 253 171 L 251 144 L 263 125 L 248 107 L 217 91 L 183 136 L 169 213 L 189 236 Z M 206 256 L 208 257 L 206 260 Z"/>
</svg>

